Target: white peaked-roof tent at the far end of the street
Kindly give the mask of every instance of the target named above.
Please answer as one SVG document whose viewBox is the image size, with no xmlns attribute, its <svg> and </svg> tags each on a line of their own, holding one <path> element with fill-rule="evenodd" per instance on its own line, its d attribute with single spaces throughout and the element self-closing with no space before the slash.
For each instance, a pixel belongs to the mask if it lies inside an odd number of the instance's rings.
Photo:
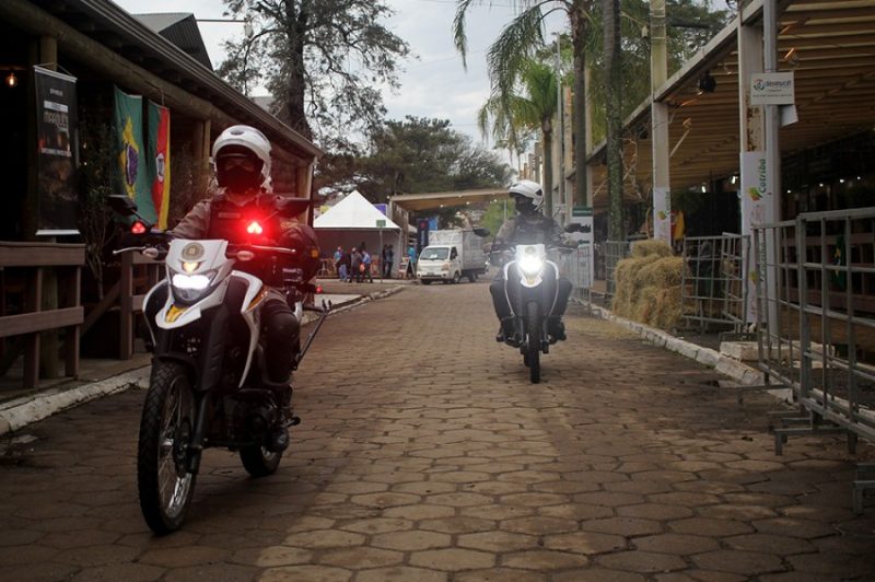
<svg viewBox="0 0 875 582">
<path fill-rule="evenodd" d="M 401 228 L 357 190 L 313 221 L 313 228 L 319 237 L 319 247 L 325 257 L 332 256 L 338 246 L 349 252 L 352 247 L 360 248 L 364 244 L 376 264 L 381 258 L 382 245 L 393 245 L 393 276 L 405 253 Z"/>
</svg>

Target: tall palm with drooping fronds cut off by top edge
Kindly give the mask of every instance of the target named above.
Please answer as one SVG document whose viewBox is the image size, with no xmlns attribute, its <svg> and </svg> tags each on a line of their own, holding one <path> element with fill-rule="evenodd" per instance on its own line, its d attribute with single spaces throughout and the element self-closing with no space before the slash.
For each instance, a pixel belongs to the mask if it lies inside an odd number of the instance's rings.
<svg viewBox="0 0 875 582">
<path fill-rule="evenodd" d="M 463 62 L 467 49 L 465 16 L 471 5 L 489 4 L 491 0 L 457 0 L 453 37 Z M 487 57 L 493 94 L 510 95 L 522 63 L 544 46 L 541 23 L 549 14 L 565 12 L 571 24 L 574 50 L 574 191 L 578 203 L 586 203 L 586 55 L 593 50 L 590 23 L 595 0 L 511 0 L 520 13 L 502 31 Z"/>
</svg>

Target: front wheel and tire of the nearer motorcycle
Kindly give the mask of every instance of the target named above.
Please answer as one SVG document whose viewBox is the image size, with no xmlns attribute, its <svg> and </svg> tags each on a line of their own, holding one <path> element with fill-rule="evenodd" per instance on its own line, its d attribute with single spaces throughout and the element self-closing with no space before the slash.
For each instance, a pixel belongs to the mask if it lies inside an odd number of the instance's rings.
<svg viewBox="0 0 875 582">
<path fill-rule="evenodd" d="M 143 519 L 158 535 L 179 528 L 195 493 L 197 476 L 188 473 L 186 454 L 195 416 L 186 369 L 155 362 L 140 419 L 137 488 Z"/>
</svg>

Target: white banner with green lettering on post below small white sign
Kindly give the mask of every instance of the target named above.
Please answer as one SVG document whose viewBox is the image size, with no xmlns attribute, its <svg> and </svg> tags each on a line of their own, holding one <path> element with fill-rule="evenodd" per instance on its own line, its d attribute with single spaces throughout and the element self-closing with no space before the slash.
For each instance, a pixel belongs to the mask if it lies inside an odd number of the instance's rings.
<svg viewBox="0 0 875 582">
<path fill-rule="evenodd" d="M 766 152 L 742 153 L 742 235 L 752 241 L 754 225 L 774 222 L 772 196 L 768 191 Z M 745 280 L 747 284 L 747 321 L 757 321 L 757 271 L 754 253 L 746 249 Z"/>
</svg>

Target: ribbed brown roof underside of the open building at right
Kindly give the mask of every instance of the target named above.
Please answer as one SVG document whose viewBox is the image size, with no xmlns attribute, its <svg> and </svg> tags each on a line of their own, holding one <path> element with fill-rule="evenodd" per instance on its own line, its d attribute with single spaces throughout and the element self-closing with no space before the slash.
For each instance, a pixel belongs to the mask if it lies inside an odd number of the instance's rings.
<svg viewBox="0 0 875 582">
<path fill-rule="evenodd" d="M 798 121 L 780 129 L 783 154 L 829 143 L 875 127 L 875 0 L 779 2 L 778 70 L 793 71 Z M 751 2 L 746 22 L 761 20 L 762 1 Z M 669 103 L 673 188 L 699 185 L 738 171 L 738 54 L 736 19 L 698 59 L 675 73 L 656 93 Z M 712 93 L 698 80 L 710 72 Z M 627 191 L 649 193 L 652 182 L 650 100 L 627 118 Z M 646 133 L 646 138 L 643 136 Z M 605 154 L 600 143 L 591 162 Z M 591 165 L 596 206 L 607 198 L 606 167 Z"/>
</svg>

